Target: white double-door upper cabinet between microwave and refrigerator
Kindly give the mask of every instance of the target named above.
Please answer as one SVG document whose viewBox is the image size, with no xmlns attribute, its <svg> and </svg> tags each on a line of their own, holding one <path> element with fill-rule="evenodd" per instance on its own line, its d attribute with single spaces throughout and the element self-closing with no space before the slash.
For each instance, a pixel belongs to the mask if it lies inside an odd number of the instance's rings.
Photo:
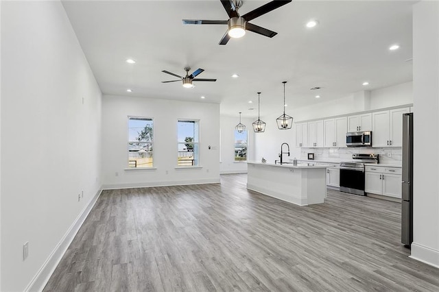
<svg viewBox="0 0 439 292">
<path fill-rule="evenodd" d="M 372 147 L 401 147 L 403 113 L 410 108 L 396 108 L 372 113 Z"/>
</svg>

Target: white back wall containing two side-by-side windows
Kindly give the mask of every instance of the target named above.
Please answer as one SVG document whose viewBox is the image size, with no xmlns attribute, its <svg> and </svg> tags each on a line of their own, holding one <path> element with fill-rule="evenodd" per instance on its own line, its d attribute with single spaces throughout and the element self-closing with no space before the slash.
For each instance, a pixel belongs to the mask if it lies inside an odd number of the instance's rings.
<svg viewBox="0 0 439 292">
<path fill-rule="evenodd" d="M 154 118 L 154 169 L 127 170 L 128 116 Z M 202 168 L 176 169 L 178 119 L 200 120 Z M 219 182 L 219 104 L 104 95 L 102 131 L 104 188 Z"/>
</svg>

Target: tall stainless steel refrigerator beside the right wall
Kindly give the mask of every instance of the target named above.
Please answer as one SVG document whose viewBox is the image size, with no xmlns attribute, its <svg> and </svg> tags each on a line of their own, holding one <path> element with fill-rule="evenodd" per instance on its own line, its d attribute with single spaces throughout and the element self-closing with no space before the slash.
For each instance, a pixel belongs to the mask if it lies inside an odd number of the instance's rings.
<svg viewBox="0 0 439 292">
<path fill-rule="evenodd" d="M 403 202 L 401 208 L 401 242 L 413 242 L 413 113 L 403 114 Z"/>
</svg>

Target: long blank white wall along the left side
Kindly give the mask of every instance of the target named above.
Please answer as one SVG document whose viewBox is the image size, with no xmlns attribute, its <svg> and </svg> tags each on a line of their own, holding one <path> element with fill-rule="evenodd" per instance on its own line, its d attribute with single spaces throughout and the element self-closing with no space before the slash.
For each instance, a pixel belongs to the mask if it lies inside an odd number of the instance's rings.
<svg viewBox="0 0 439 292">
<path fill-rule="evenodd" d="M 1 60 L 0 290 L 23 291 L 99 191 L 101 93 L 59 1 L 2 1 Z"/>
</svg>

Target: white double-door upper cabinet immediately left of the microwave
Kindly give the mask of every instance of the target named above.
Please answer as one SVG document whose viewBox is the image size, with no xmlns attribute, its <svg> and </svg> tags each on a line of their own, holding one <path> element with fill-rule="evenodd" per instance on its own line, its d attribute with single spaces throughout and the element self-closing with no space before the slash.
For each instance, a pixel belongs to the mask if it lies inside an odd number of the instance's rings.
<svg viewBox="0 0 439 292">
<path fill-rule="evenodd" d="M 326 119 L 324 123 L 324 147 L 346 147 L 348 120 L 346 117 Z"/>
</svg>

